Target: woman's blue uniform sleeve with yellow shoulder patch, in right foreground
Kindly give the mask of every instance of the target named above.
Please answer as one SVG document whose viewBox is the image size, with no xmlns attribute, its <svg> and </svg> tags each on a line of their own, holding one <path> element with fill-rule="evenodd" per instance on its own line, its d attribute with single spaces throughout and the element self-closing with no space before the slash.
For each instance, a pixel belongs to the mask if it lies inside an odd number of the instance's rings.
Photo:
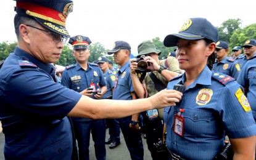
<svg viewBox="0 0 256 160">
<path fill-rule="evenodd" d="M 230 138 L 250 137 L 256 134 L 256 124 L 249 103 L 237 82 L 231 82 L 223 90 L 223 123 Z"/>
</svg>

